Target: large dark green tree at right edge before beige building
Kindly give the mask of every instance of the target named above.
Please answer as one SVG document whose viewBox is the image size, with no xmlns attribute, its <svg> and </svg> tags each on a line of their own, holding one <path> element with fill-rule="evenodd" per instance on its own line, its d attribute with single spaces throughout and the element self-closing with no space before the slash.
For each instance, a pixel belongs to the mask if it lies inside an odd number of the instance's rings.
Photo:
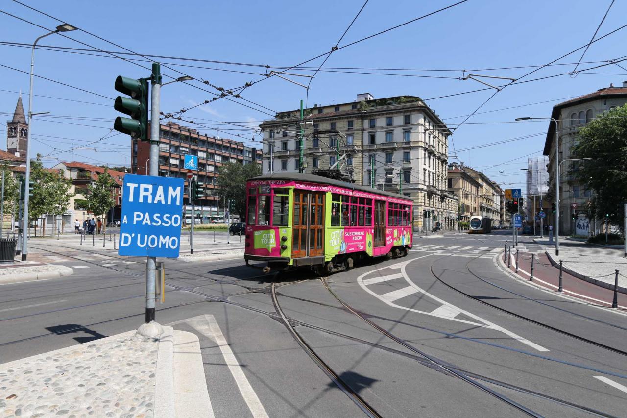
<svg viewBox="0 0 627 418">
<path fill-rule="evenodd" d="M 623 203 L 627 201 L 627 104 L 609 110 L 579 129 L 571 174 L 593 190 L 589 215 L 623 225 Z"/>
</svg>

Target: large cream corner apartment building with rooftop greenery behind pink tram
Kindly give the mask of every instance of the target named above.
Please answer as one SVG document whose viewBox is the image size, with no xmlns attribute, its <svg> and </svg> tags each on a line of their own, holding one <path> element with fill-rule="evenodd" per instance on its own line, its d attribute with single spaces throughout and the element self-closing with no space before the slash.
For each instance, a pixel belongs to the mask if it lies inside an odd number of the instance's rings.
<svg viewBox="0 0 627 418">
<path fill-rule="evenodd" d="M 414 200 L 414 228 L 455 229 L 458 198 L 446 188 L 450 131 L 416 96 L 314 105 L 279 112 L 260 125 L 263 173 L 297 173 L 303 132 L 303 171 L 337 168 L 354 183 Z"/>
</svg>

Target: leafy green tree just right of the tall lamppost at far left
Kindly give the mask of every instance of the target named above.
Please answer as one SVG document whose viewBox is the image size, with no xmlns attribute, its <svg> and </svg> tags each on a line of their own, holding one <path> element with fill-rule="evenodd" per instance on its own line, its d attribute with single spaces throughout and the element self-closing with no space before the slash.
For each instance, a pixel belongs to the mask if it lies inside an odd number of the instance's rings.
<svg viewBox="0 0 627 418">
<path fill-rule="evenodd" d="M 44 168 L 41 154 L 31 161 L 31 180 L 33 196 L 28 200 L 28 220 L 32 222 L 47 214 L 63 215 L 68 209 L 70 198 L 75 195 L 71 191 L 71 180 L 65 178 L 61 170 Z M 45 234 L 44 225 L 41 227 L 42 235 Z"/>
</svg>

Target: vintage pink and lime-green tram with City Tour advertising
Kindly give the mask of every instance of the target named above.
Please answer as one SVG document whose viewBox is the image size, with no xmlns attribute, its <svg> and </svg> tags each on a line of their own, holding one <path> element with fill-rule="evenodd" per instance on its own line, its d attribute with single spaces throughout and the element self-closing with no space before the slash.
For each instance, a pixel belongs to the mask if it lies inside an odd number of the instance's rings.
<svg viewBox="0 0 627 418">
<path fill-rule="evenodd" d="M 359 259 L 397 258 L 412 247 L 407 196 L 312 174 L 246 182 L 246 264 L 265 272 L 298 267 L 330 274 Z"/>
</svg>

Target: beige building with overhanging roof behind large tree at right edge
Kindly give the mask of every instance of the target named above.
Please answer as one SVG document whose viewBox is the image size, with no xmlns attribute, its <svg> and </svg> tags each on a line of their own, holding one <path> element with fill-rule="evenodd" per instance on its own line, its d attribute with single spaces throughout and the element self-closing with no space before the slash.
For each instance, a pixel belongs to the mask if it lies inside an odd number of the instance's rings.
<svg viewBox="0 0 627 418">
<path fill-rule="evenodd" d="M 559 137 L 559 155 L 556 156 L 556 126 L 553 122 L 549 124 L 546 140 L 544 142 L 545 156 L 549 157 L 549 190 L 547 191 L 547 201 L 556 202 L 556 164 L 557 161 L 576 158 L 572 155 L 571 149 L 577 141 L 579 128 L 586 126 L 588 122 L 599 114 L 619 107 L 627 102 L 627 82 L 623 82 L 622 87 L 599 88 L 596 92 L 582 95 L 576 99 L 567 100 L 553 107 L 551 117 L 557 120 Z M 599 220 L 597 227 L 594 224 L 597 220 L 587 217 L 587 201 L 593 195 L 593 190 L 586 189 L 586 185 L 577 180 L 573 171 L 577 169 L 579 162 L 565 161 L 560 166 L 559 191 L 559 232 L 572 235 L 589 235 L 601 228 L 602 220 Z M 549 203 L 550 204 L 550 203 Z M 545 205 L 546 206 L 546 205 Z M 572 219 L 574 215 L 575 219 Z M 549 225 L 554 225 L 554 217 L 548 216 Z M 591 226 L 592 224 L 592 226 Z"/>
</svg>

